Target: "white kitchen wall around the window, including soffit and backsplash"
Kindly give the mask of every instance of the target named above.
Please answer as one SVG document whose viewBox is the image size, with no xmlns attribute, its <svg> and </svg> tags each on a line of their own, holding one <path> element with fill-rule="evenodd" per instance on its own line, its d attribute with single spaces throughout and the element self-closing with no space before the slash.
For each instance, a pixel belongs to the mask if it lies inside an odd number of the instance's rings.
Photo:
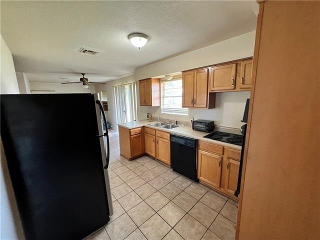
<svg viewBox="0 0 320 240">
<path fill-rule="evenodd" d="M 245 33 L 210 46 L 174 56 L 163 61 L 140 67 L 135 70 L 135 79 L 160 76 L 191 68 L 211 65 L 215 63 L 235 60 L 253 55 L 255 31 Z M 138 95 L 138 94 L 137 94 Z M 160 107 L 148 107 L 138 105 L 138 118 L 145 119 L 146 113 L 153 116 L 188 121 L 189 116 L 194 119 L 213 120 L 220 126 L 239 128 L 246 98 L 250 97 L 249 91 L 216 93 L 214 109 L 189 108 L 189 115 L 176 115 L 161 113 Z M 139 104 L 139 103 L 138 103 Z"/>
</svg>

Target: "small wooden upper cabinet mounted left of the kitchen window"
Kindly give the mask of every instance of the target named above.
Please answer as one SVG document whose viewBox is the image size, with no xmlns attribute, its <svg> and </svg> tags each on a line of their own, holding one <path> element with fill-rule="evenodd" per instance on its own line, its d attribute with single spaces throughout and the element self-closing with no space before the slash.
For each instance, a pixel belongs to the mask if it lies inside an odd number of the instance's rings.
<svg viewBox="0 0 320 240">
<path fill-rule="evenodd" d="M 141 106 L 159 106 L 160 78 L 139 80 L 139 98 Z"/>
</svg>

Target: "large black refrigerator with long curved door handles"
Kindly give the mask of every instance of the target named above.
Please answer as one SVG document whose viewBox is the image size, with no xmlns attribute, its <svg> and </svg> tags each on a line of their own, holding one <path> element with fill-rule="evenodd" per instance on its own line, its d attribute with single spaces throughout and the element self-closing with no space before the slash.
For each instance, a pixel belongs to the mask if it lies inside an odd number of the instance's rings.
<svg viewBox="0 0 320 240">
<path fill-rule="evenodd" d="M 1 139 L 25 238 L 81 239 L 105 225 L 113 210 L 98 95 L 0 97 Z"/>
</svg>

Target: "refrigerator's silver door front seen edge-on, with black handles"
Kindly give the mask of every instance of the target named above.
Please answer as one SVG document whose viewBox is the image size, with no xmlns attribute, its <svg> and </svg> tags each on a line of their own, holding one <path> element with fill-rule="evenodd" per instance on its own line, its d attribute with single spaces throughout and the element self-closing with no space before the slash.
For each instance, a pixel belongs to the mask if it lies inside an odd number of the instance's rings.
<svg viewBox="0 0 320 240">
<path fill-rule="evenodd" d="M 106 118 L 104 115 L 104 110 L 100 100 L 98 99 L 98 94 L 94 93 L 94 101 L 95 101 L 95 112 L 96 112 L 96 121 L 98 125 L 98 134 L 100 139 L 100 150 L 101 150 L 101 157 L 103 162 L 103 169 L 104 169 L 104 179 L 105 179 L 105 187 L 106 187 L 106 196 L 108 199 L 108 207 L 109 207 L 109 215 L 113 214 L 113 206 L 112 206 L 112 197 L 111 197 L 111 187 L 109 181 L 109 173 L 108 173 L 108 165 L 109 165 L 109 156 L 110 156 L 110 146 L 109 146 L 109 136 L 108 136 L 108 128 L 106 124 Z M 105 124 L 106 132 L 103 133 L 102 121 Z M 104 136 L 106 138 L 106 145 L 104 143 Z M 105 153 L 105 148 L 107 149 L 107 153 Z"/>
</svg>

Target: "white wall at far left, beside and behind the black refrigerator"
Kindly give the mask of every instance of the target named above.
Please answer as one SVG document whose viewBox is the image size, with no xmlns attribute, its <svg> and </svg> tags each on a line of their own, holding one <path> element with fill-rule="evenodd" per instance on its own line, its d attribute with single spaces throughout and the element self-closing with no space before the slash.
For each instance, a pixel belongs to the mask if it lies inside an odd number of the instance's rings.
<svg viewBox="0 0 320 240">
<path fill-rule="evenodd" d="M 19 93 L 12 54 L 2 36 L 0 52 L 0 93 Z M 12 183 L 6 165 L 2 140 L 0 140 L 0 160 L 0 239 L 24 239 Z"/>
</svg>

